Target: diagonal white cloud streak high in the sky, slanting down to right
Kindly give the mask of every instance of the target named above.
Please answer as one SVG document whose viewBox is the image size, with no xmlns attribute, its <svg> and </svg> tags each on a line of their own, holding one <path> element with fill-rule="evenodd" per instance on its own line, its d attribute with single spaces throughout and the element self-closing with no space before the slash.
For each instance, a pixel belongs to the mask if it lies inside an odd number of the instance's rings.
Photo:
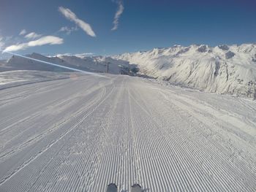
<svg viewBox="0 0 256 192">
<path fill-rule="evenodd" d="M 86 32 L 86 34 L 89 34 L 89 36 L 91 37 L 96 37 L 89 23 L 86 23 L 83 20 L 80 20 L 77 17 L 77 15 L 75 15 L 75 13 L 72 12 L 70 9 L 59 7 L 59 12 L 61 12 L 61 14 L 64 15 L 64 17 L 67 18 L 68 20 L 75 22 L 75 24 L 77 24 L 80 28 L 82 28 L 83 31 Z"/>
</svg>

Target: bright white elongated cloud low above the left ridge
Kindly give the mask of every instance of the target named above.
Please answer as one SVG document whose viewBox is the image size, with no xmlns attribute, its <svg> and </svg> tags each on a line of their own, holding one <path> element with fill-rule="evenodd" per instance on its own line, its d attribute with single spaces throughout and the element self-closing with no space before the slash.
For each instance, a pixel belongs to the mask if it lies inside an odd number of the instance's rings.
<svg viewBox="0 0 256 192">
<path fill-rule="evenodd" d="M 60 45 L 63 42 L 64 42 L 63 39 L 61 39 L 59 37 L 45 36 L 45 37 L 41 37 L 40 39 L 31 41 L 31 42 L 10 45 L 9 47 L 6 47 L 3 52 L 25 50 L 28 47 L 36 47 L 36 46 L 42 46 L 42 45 Z"/>
</svg>

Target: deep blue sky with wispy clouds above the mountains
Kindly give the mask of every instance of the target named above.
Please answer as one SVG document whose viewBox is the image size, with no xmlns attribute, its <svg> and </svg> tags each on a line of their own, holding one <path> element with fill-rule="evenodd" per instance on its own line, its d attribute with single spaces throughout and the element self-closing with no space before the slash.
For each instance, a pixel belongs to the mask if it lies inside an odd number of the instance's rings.
<svg viewBox="0 0 256 192">
<path fill-rule="evenodd" d="M 255 43 L 255 7 L 255 0 L 0 0 L 0 47 L 20 54 L 110 55 L 176 44 Z"/>
</svg>

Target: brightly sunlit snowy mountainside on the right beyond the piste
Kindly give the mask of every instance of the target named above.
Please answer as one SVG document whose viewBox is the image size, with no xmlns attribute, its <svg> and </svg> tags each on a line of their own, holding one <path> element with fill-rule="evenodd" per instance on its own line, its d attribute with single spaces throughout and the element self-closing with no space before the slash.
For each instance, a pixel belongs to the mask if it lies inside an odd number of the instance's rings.
<svg viewBox="0 0 256 192">
<path fill-rule="evenodd" d="M 256 45 L 191 45 L 124 53 L 113 58 L 137 64 L 140 73 L 201 91 L 256 99 Z"/>
</svg>

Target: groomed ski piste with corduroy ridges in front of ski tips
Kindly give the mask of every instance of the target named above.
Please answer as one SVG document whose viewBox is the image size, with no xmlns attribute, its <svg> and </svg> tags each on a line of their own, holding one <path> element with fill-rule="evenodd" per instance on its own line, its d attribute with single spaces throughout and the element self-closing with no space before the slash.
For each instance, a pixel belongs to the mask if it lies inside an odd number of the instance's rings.
<svg viewBox="0 0 256 192">
<path fill-rule="evenodd" d="M 104 75 L 0 85 L 1 192 L 256 191 L 255 101 Z"/>
</svg>

